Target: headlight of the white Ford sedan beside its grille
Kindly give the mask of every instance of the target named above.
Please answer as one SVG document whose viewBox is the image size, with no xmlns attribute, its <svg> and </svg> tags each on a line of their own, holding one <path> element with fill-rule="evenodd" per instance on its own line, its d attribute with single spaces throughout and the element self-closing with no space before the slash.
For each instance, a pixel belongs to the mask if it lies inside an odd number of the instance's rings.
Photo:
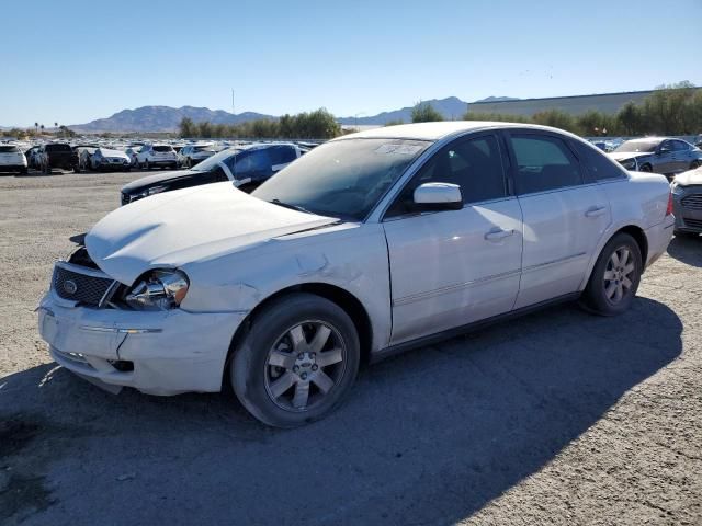
<svg viewBox="0 0 702 526">
<path fill-rule="evenodd" d="M 178 307 L 188 294 L 188 276 L 180 271 L 149 272 L 125 296 L 127 305 L 139 310 L 168 310 Z"/>
</svg>

